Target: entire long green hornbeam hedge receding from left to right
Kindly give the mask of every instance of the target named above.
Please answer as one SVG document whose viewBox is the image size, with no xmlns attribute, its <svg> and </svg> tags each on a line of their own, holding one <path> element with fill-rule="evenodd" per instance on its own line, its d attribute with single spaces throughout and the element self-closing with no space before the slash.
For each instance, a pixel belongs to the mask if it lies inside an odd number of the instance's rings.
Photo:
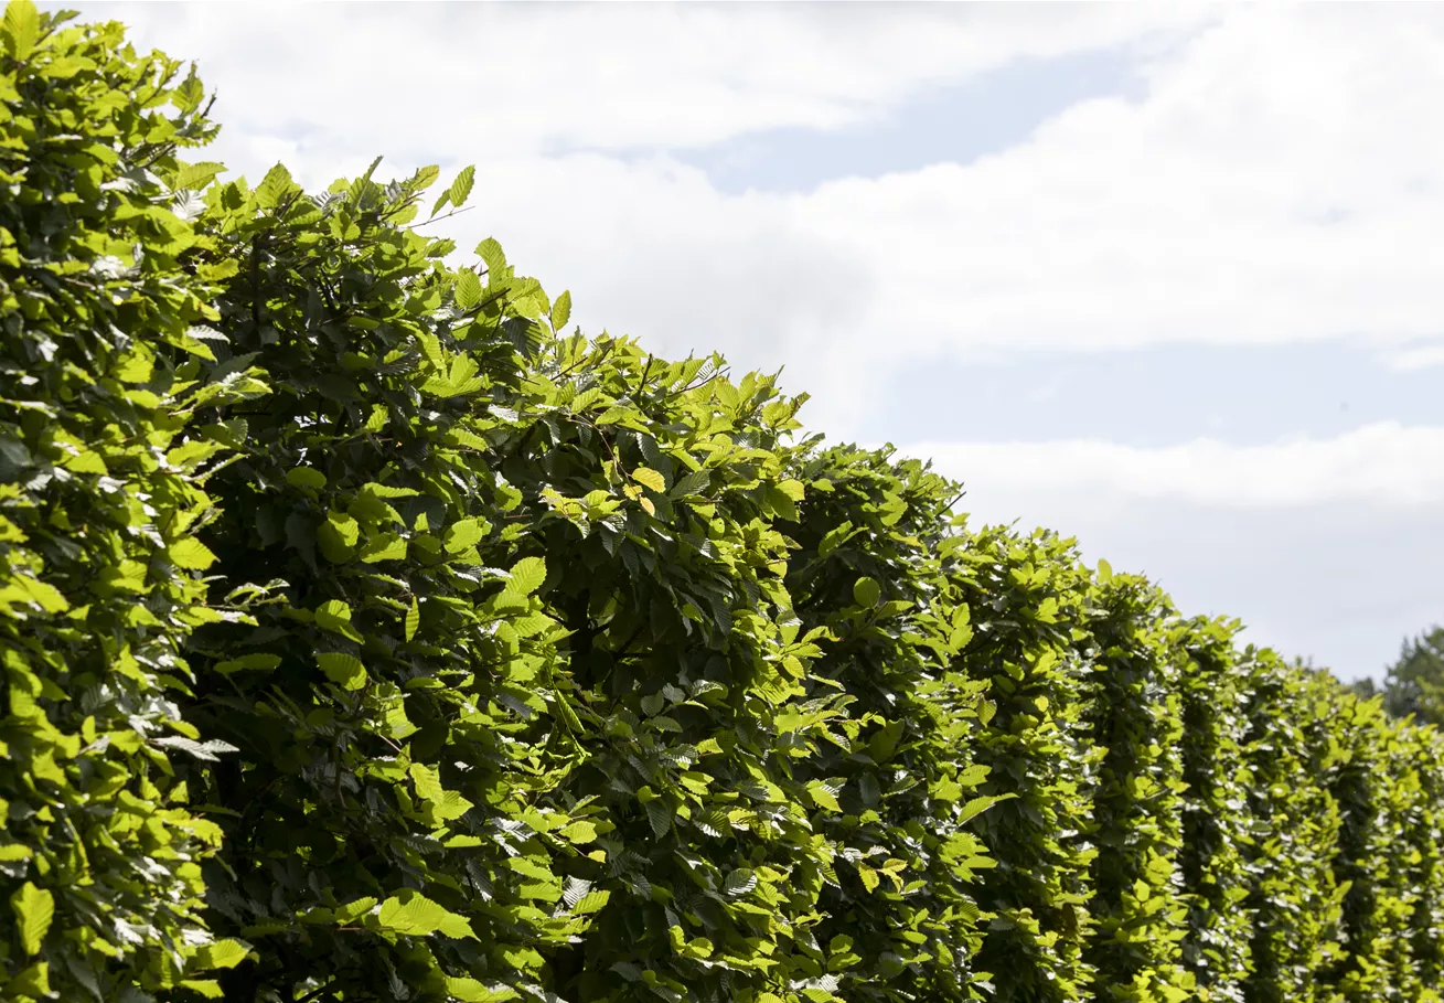
<svg viewBox="0 0 1444 1003">
<path fill-rule="evenodd" d="M 3 999 L 1438 1000 L 1432 728 L 0 43 Z"/>
</svg>

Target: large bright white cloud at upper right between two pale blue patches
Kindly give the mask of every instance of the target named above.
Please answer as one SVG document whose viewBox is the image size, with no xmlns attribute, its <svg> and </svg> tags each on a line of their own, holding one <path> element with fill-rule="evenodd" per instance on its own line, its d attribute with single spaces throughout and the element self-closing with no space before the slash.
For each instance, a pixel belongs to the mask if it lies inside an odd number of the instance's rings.
<svg viewBox="0 0 1444 1003">
<path fill-rule="evenodd" d="M 1229 7 L 1018 147 L 825 185 L 803 225 L 877 263 L 900 350 L 1389 344 L 1438 331 L 1437 9 Z"/>
</svg>

